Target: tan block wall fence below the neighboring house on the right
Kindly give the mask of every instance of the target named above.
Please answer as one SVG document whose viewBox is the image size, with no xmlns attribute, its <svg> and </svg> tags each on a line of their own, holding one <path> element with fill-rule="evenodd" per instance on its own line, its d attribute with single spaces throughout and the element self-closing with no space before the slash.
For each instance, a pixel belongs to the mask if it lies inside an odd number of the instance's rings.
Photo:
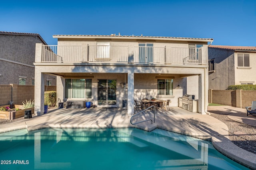
<svg viewBox="0 0 256 170">
<path fill-rule="evenodd" d="M 209 89 L 209 103 L 245 108 L 256 101 L 256 90 L 212 90 Z"/>
</svg>

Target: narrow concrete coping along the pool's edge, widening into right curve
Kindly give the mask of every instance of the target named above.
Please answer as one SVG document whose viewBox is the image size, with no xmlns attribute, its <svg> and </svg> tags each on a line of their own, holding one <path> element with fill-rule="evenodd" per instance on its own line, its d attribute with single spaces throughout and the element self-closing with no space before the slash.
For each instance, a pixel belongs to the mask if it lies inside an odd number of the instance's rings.
<svg viewBox="0 0 256 170">
<path fill-rule="evenodd" d="M 9 132 L 9 131 L 15 131 L 20 129 L 27 129 L 28 131 L 34 131 L 38 129 L 45 129 L 45 128 L 138 128 L 142 129 L 144 131 L 152 131 L 154 129 L 163 129 L 166 131 L 172 131 L 174 133 L 179 133 L 182 135 L 187 135 L 191 137 L 196 137 L 199 139 L 204 139 L 212 142 L 212 145 L 216 150 L 218 150 L 220 153 L 222 153 L 224 156 L 230 158 L 234 162 L 237 162 L 241 164 L 242 166 L 245 166 L 246 168 L 255 170 L 256 169 L 256 159 L 255 154 L 248 152 L 244 149 L 241 149 L 240 147 L 236 146 L 232 141 L 227 139 L 226 137 L 223 137 L 222 135 L 219 136 L 212 136 L 211 138 L 204 138 L 199 137 L 195 133 L 188 133 L 186 131 L 180 131 L 178 129 L 172 129 L 170 127 L 164 127 L 162 125 L 152 124 L 150 126 L 143 126 L 143 125 L 130 125 L 130 126 L 124 126 L 124 125 L 61 125 L 61 124 L 48 124 L 46 126 L 41 126 L 37 128 L 28 128 L 26 126 L 26 122 L 22 123 L 23 125 L 19 125 L 17 127 L 9 127 L 5 131 L 1 131 L 0 133 Z"/>
</svg>

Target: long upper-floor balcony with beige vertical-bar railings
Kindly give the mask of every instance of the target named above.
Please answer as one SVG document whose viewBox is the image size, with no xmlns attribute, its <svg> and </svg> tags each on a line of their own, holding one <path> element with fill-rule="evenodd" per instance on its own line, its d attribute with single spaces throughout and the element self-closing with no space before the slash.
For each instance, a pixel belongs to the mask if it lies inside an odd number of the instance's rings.
<svg viewBox="0 0 256 170">
<path fill-rule="evenodd" d="M 202 64 L 201 48 L 42 45 L 41 63 Z"/>
</svg>

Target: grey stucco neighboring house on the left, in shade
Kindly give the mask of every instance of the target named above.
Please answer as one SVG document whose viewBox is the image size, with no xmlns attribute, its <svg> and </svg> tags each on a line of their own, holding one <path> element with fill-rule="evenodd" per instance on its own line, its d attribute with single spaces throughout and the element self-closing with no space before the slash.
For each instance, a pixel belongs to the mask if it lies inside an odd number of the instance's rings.
<svg viewBox="0 0 256 170">
<path fill-rule="evenodd" d="M 36 43 L 47 45 L 37 33 L 0 31 L 0 84 L 34 85 Z M 56 85 L 46 75 L 45 85 Z"/>
</svg>

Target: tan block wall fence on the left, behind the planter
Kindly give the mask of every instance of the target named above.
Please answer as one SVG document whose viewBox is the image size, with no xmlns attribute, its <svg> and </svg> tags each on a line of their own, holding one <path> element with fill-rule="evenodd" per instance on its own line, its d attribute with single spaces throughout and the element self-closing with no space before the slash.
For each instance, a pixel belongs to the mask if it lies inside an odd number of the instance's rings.
<svg viewBox="0 0 256 170">
<path fill-rule="evenodd" d="M 46 91 L 56 91 L 56 86 L 45 86 Z M 10 100 L 14 104 L 22 104 L 26 100 L 34 100 L 34 86 L 18 84 L 0 84 L 0 106 L 8 105 Z"/>
</svg>

